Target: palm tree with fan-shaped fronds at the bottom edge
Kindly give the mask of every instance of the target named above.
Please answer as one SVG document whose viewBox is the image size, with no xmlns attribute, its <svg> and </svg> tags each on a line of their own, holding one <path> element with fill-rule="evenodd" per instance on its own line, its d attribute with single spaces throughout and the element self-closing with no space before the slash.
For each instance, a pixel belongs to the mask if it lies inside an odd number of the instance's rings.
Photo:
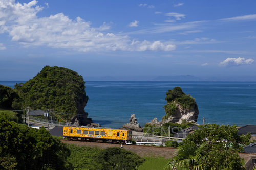
<svg viewBox="0 0 256 170">
<path fill-rule="evenodd" d="M 177 155 L 167 163 L 164 169 L 209 169 L 207 167 L 208 153 L 205 151 L 207 147 L 207 142 L 199 147 L 194 142 L 181 145 L 178 147 Z"/>
</svg>

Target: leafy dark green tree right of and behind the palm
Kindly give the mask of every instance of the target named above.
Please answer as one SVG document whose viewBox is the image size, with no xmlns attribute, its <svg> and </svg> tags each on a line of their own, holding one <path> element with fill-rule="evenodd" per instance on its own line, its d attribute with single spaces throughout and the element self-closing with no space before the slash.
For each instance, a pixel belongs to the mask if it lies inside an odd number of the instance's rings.
<svg viewBox="0 0 256 170">
<path fill-rule="evenodd" d="M 194 142 L 197 145 L 207 141 L 209 148 L 209 165 L 212 169 L 244 169 L 239 152 L 248 144 L 250 134 L 238 135 L 235 125 L 209 124 L 198 129 L 183 140 L 184 143 Z"/>
</svg>

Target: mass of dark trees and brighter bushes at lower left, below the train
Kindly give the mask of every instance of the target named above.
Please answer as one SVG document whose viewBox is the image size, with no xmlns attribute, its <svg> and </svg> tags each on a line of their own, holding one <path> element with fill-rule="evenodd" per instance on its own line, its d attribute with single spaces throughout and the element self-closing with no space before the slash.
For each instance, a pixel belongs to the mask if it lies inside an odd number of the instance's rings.
<svg viewBox="0 0 256 170">
<path fill-rule="evenodd" d="M 68 145 L 42 127 L 18 124 L 0 111 L 0 169 L 137 169 L 144 159 L 121 148 Z"/>
</svg>

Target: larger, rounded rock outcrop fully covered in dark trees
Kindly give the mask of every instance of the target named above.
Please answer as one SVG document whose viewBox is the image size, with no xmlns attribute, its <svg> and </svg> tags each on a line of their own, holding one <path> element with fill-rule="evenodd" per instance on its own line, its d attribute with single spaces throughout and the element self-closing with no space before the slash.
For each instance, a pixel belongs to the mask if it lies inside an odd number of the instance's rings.
<svg viewBox="0 0 256 170">
<path fill-rule="evenodd" d="M 84 80 L 77 72 L 63 67 L 45 66 L 33 79 L 15 85 L 22 98 L 22 107 L 32 110 L 51 110 L 60 119 L 79 120 L 80 125 L 92 123 L 84 112 L 88 96 Z"/>
</svg>

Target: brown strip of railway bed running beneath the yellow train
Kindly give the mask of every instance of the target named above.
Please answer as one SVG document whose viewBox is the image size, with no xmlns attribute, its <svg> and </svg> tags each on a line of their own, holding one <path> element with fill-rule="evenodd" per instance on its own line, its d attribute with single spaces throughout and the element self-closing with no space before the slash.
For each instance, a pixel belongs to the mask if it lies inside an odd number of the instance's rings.
<svg viewBox="0 0 256 170">
<path fill-rule="evenodd" d="M 76 144 L 76 145 L 86 145 L 89 147 L 99 147 L 99 148 L 109 148 L 109 147 L 121 147 L 121 144 L 111 144 L 111 143 L 98 143 L 98 142 L 85 142 L 85 141 L 69 141 L 61 140 L 63 143 Z M 146 145 L 126 145 L 123 144 L 122 148 L 135 152 L 139 156 L 162 156 L 164 158 L 170 158 L 175 155 L 177 151 L 176 148 L 170 147 L 154 147 Z"/>
</svg>

